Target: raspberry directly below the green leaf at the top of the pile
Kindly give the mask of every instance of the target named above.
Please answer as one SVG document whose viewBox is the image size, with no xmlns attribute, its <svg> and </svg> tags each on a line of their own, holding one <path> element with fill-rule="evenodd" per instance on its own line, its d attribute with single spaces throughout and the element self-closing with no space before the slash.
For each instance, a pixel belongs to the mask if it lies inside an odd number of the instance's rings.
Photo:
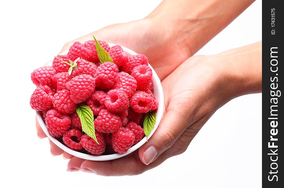
<svg viewBox="0 0 284 188">
<path fill-rule="evenodd" d="M 109 89 L 113 86 L 117 76 L 117 66 L 111 62 L 99 65 L 96 71 L 96 86 L 101 89 Z"/>
</svg>

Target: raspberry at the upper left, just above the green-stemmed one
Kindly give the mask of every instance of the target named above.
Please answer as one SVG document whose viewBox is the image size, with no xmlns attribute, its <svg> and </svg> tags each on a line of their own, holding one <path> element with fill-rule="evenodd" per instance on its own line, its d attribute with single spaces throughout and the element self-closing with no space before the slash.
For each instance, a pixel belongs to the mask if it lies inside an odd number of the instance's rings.
<svg viewBox="0 0 284 188">
<path fill-rule="evenodd" d="M 67 59 L 71 61 L 75 61 L 78 57 L 88 60 L 92 51 L 87 49 L 82 43 L 75 42 L 67 53 Z"/>
</svg>

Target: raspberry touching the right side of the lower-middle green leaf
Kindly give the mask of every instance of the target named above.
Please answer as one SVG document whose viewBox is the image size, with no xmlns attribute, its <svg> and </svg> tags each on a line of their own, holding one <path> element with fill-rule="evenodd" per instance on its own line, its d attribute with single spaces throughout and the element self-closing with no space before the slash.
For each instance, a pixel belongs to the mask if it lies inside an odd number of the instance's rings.
<svg viewBox="0 0 284 188">
<path fill-rule="evenodd" d="M 121 127 L 120 118 L 108 110 L 101 110 L 94 123 L 95 129 L 101 133 L 113 133 Z"/>
</svg>

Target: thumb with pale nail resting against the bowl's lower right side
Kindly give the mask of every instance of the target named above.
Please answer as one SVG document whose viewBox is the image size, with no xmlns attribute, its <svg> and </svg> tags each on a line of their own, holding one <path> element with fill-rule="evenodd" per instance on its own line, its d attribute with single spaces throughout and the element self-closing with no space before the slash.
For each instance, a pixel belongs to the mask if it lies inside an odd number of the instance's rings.
<svg viewBox="0 0 284 188">
<path fill-rule="evenodd" d="M 140 160 L 149 165 L 174 144 L 188 125 L 187 118 L 177 110 L 166 112 L 151 139 L 139 148 Z"/>
</svg>

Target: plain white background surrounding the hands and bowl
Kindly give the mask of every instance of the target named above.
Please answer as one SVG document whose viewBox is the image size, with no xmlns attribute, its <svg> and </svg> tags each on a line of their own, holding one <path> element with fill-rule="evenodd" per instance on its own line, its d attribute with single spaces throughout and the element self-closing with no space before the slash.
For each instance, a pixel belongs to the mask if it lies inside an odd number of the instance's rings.
<svg viewBox="0 0 284 188">
<path fill-rule="evenodd" d="M 123 187 L 261 186 L 261 94 L 228 102 L 185 153 L 137 176 L 66 172 L 68 161 L 51 156 L 48 140 L 37 138 L 35 112 L 29 106 L 35 89 L 30 73 L 66 42 L 109 24 L 143 18 L 160 2 L 0 1 L 1 187 L 119 187 L 117 182 Z M 216 54 L 261 39 L 262 1 L 257 0 L 197 54 Z"/>
</svg>

